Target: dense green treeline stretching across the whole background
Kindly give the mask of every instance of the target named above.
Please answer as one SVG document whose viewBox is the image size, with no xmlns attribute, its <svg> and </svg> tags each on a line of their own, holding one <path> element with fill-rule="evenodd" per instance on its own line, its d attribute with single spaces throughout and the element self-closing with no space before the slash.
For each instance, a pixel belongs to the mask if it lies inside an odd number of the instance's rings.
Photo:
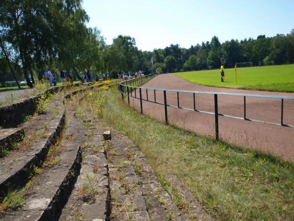
<svg viewBox="0 0 294 221">
<path fill-rule="evenodd" d="M 88 21 L 81 0 L 0 1 L 0 81 L 14 80 L 15 74 L 33 86 L 34 77 L 41 78 L 48 68 L 67 70 L 74 79 L 87 68 L 112 77 L 138 70 L 148 74 L 151 57 L 158 72 L 219 68 L 221 62 L 226 67 L 247 61 L 255 66 L 294 62 L 294 29 L 287 35 L 222 44 L 214 36 L 189 49 L 176 44 L 147 52 L 138 50 L 130 36 L 119 35 L 106 45 L 97 28 L 86 27 Z"/>
</svg>

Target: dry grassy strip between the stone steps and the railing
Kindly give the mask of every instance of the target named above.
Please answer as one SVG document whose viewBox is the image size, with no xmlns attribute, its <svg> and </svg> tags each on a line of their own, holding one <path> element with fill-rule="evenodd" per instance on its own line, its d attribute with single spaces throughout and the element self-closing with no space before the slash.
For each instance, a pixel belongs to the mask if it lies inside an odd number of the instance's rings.
<svg viewBox="0 0 294 221">
<path fill-rule="evenodd" d="M 292 164 L 165 126 L 129 108 L 115 88 L 86 99 L 84 114 L 132 139 L 158 176 L 176 175 L 216 220 L 293 220 Z"/>
</svg>

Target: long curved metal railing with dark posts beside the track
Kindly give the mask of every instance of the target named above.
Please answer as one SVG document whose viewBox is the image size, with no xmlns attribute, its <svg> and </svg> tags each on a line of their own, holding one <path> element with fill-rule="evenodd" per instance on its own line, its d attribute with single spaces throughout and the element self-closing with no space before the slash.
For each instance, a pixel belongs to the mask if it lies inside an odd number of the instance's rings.
<svg viewBox="0 0 294 221">
<path fill-rule="evenodd" d="M 162 88 L 151 88 L 151 87 L 141 87 L 140 86 L 140 85 L 146 83 L 147 80 L 149 80 L 149 78 L 152 78 L 152 77 L 154 77 L 154 74 L 122 82 L 119 84 L 119 91 L 122 94 L 122 99 L 124 98 L 124 96 L 127 96 L 128 105 L 130 104 L 130 97 L 140 100 L 141 113 L 143 113 L 143 101 L 147 101 L 147 102 L 150 102 L 153 104 L 163 105 L 165 108 L 165 123 L 166 124 L 168 124 L 168 109 L 167 109 L 167 107 L 172 107 L 172 108 L 178 108 L 178 109 L 187 110 L 187 111 L 196 111 L 196 112 L 200 112 L 200 113 L 214 114 L 215 115 L 215 138 L 216 138 L 216 140 L 219 140 L 219 116 L 294 128 L 293 125 L 287 125 L 287 124 L 284 124 L 284 122 L 283 122 L 284 121 L 284 119 L 283 119 L 284 118 L 284 100 L 294 100 L 294 97 L 257 95 L 257 94 L 223 93 L 223 92 L 207 92 L 207 91 L 190 91 L 190 90 L 173 90 L 173 89 L 162 89 Z M 139 90 L 139 96 L 137 95 L 137 92 L 136 92 L 137 90 Z M 142 90 L 146 90 L 146 99 L 142 97 Z M 153 91 L 154 101 L 151 101 L 150 99 L 148 99 L 148 91 Z M 163 91 L 164 103 L 160 103 L 160 102 L 156 101 L 156 91 Z M 175 92 L 177 94 L 177 106 L 167 103 L 167 91 Z M 192 93 L 193 94 L 194 109 L 180 107 L 179 93 Z M 196 94 L 214 95 L 214 110 L 215 111 L 211 112 L 211 111 L 196 110 Z M 244 116 L 238 117 L 238 116 L 232 116 L 232 115 L 228 115 L 228 114 L 219 113 L 218 95 L 244 97 Z M 267 122 L 267 121 L 247 118 L 246 117 L 246 97 L 281 99 L 281 120 L 280 120 L 280 123 Z"/>
</svg>

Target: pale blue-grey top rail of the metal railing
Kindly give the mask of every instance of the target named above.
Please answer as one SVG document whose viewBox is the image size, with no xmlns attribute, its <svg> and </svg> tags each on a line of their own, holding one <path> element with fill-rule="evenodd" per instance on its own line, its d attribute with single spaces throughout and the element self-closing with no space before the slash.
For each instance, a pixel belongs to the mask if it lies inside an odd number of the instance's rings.
<svg viewBox="0 0 294 221">
<path fill-rule="evenodd" d="M 133 80 L 133 79 L 130 79 L 130 80 Z M 128 81 L 130 81 L 130 80 L 128 80 Z M 231 95 L 231 96 L 241 96 L 241 97 L 244 97 L 245 96 L 245 97 L 259 97 L 259 98 L 275 98 L 275 99 L 294 100 L 294 97 L 291 97 L 291 96 L 274 96 L 274 95 L 261 95 L 261 94 L 240 94 L 240 93 L 212 92 L 212 91 L 175 90 L 175 89 L 164 89 L 164 88 L 132 86 L 132 85 L 129 85 L 129 84 L 122 84 L 122 83 L 121 83 L 121 85 L 128 86 L 128 87 L 133 87 L 133 88 L 147 89 L 147 90 L 161 90 L 161 91 L 183 92 L 183 93 L 196 93 L 196 94 L 220 94 L 220 95 Z"/>
</svg>

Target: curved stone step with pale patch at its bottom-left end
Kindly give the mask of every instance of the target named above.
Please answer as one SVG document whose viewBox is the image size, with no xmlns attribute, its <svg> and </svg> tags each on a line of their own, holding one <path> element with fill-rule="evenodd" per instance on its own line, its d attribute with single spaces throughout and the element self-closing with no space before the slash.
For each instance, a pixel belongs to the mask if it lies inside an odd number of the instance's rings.
<svg viewBox="0 0 294 221">
<path fill-rule="evenodd" d="M 72 191 L 81 162 L 80 146 L 88 139 L 81 121 L 74 116 L 68 103 L 66 129 L 62 140 L 44 162 L 42 171 L 23 189 L 26 204 L 23 207 L 2 212 L 5 221 L 56 220 Z"/>
</svg>

